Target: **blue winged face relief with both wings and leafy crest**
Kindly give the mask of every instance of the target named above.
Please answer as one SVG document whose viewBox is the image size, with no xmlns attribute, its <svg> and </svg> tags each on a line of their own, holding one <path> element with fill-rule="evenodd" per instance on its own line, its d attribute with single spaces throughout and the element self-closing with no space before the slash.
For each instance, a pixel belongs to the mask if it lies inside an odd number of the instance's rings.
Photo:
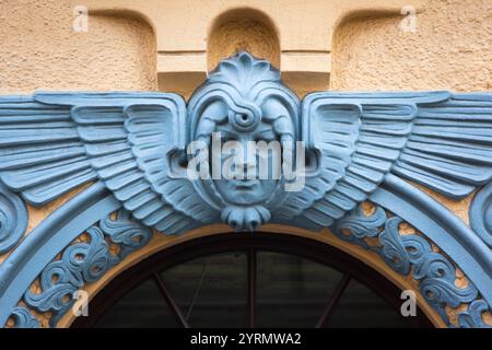
<svg viewBox="0 0 492 350">
<path fill-rule="evenodd" d="M 303 145 L 302 166 L 290 161 L 303 186 L 285 190 L 283 172 L 216 178 L 211 162 L 209 176 L 190 178 L 190 158 L 199 159 L 214 135 L 245 148 Z M 42 206 L 98 180 L 137 220 L 165 234 L 220 221 L 236 231 L 267 222 L 320 230 L 366 200 L 387 174 L 464 198 L 490 180 L 491 147 L 491 94 L 320 92 L 300 102 L 277 69 L 247 52 L 223 60 L 188 106 L 164 93 L 0 98 L 0 177 L 11 190 Z M 219 158 L 221 165 L 251 167 L 234 152 Z"/>
</svg>

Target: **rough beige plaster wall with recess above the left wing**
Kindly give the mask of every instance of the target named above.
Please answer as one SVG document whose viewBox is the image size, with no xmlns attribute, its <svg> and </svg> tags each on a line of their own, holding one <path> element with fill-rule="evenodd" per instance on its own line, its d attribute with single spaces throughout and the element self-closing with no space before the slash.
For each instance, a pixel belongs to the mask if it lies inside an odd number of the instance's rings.
<svg viewBox="0 0 492 350">
<path fill-rule="evenodd" d="M 157 89 L 147 23 L 90 16 L 75 33 L 73 20 L 68 0 L 0 0 L 0 93 Z"/>
</svg>

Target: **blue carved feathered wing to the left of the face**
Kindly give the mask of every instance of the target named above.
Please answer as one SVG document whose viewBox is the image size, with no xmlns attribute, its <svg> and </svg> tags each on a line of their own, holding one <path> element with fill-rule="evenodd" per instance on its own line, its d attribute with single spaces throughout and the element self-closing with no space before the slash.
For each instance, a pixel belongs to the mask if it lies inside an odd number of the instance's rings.
<svg viewBox="0 0 492 350">
<path fill-rule="evenodd" d="M 98 179 L 145 225 L 179 233 L 213 217 L 192 184 L 169 176 L 185 116 L 173 94 L 2 96 L 0 177 L 35 206 Z"/>
</svg>

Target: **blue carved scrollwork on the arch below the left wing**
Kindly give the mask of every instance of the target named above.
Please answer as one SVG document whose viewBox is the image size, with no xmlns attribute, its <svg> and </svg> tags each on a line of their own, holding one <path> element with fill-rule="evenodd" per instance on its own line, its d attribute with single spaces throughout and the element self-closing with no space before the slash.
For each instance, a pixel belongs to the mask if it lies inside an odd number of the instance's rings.
<svg viewBox="0 0 492 350">
<path fill-rule="evenodd" d="M 65 248 L 61 258 L 49 262 L 40 275 L 39 293 L 27 290 L 24 302 L 37 312 L 51 312 L 50 325 L 56 326 L 73 305 L 72 296 L 85 283 L 97 281 L 129 253 L 147 245 L 152 231 L 131 220 L 125 210 L 119 210 L 113 220 L 109 215 L 97 225 L 86 230 L 86 240 Z M 108 241 L 106 241 L 107 238 Z M 108 242 L 118 246 L 112 253 Z"/>
</svg>

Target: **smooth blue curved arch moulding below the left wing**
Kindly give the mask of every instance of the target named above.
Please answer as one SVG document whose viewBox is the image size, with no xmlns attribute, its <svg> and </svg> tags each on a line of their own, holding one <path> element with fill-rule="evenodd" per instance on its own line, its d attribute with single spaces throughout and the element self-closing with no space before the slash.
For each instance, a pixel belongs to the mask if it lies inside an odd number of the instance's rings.
<svg viewBox="0 0 492 350">
<path fill-rule="evenodd" d="M 96 183 L 43 221 L 0 265 L 0 325 L 3 327 L 33 281 L 56 255 L 120 203 Z"/>
</svg>

